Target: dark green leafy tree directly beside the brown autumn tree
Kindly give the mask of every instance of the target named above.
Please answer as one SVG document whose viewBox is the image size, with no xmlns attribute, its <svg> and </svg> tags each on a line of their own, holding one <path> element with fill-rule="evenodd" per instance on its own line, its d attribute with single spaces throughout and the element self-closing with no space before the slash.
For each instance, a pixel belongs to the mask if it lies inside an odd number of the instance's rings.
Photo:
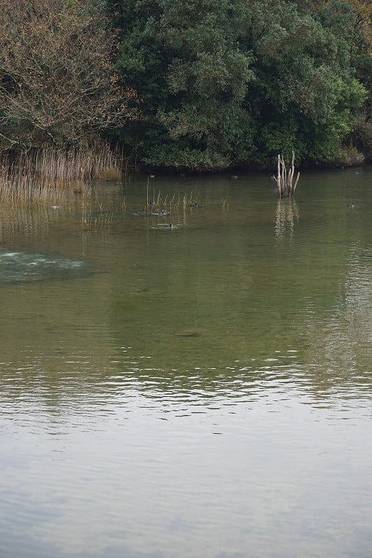
<svg viewBox="0 0 372 558">
<path fill-rule="evenodd" d="M 122 29 L 117 60 L 142 99 L 140 126 L 121 135 L 152 165 L 206 169 L 251 156 L 242 106 L 253 79 L 239 47 L 246 8 L 234 0 L 111 0 Z"/>
</svg>

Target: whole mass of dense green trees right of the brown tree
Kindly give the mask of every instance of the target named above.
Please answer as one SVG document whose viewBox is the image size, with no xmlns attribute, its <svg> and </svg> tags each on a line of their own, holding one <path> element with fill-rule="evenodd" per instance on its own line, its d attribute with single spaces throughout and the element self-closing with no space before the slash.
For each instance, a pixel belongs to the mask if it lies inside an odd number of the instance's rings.
<svg viewBox="0 0 372 558">
<path fill-rule="evenodd" d="M 121 33 L 117 70 L 141 100 L 119 139 L 142 163 L 265 164 L 292 149 L 335 160 L 368 119 L 371 53 L 362 60 L 352 1 L 107 3 Z"/>
</svg>

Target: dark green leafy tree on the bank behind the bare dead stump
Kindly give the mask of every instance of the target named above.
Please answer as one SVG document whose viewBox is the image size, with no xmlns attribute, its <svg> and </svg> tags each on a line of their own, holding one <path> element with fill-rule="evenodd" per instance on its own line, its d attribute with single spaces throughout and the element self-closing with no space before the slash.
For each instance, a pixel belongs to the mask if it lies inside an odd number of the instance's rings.
<svg viewBox="0 0 372 558">
<path fill-rule="evenodd" d="M 262 162 L 294 149 L 300 160 L 341 156 L 365 98 L 352 66 L 355 13 L 343 1 L 314 4 L 313 13 L 280 0 L 252 6 L 249 99 Z"/>
</svg>

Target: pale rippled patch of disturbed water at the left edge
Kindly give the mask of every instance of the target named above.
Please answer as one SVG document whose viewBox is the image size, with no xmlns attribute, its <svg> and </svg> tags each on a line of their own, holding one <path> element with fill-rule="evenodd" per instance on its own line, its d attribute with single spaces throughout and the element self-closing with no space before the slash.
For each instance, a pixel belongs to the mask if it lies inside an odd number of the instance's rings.
<svg viewBox="0 0 372 558">
<path fill-rule="evenodd" d="M 94 273 L 80 260 L 43 252 L 0 252 L 0 285 L 86 277 Z"/>
</svg>

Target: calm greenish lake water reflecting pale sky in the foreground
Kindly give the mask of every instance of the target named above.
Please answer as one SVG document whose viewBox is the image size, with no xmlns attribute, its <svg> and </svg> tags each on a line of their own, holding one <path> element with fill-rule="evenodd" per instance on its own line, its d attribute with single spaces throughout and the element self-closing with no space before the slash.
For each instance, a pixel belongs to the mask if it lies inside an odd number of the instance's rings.
<svg viewBox="0 0 372 558">
<path fill-rule="evenodd" d="M 372 168 L 273 187 L 1 211 L 1 558 L 372 556 Z"/>
</svg>

